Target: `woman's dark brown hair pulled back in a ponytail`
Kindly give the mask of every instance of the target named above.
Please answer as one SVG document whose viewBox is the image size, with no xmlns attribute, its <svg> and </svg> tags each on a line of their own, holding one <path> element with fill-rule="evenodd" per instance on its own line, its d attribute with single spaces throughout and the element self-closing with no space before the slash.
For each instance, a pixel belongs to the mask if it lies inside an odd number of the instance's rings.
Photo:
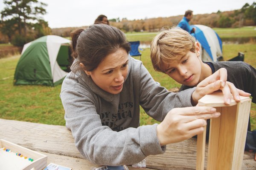
<svg viewBox="0 0 256 170">
<path fill-rule="evenodd" d="M 71 70 L 78 69 L 93 71 L 99 63 L 109 54 L 117 49 L 124 49 L 127 54 L 130 51 L 130 44 L 125 34 L 119 29 L 106 24 L 94 24 L 87 29 L 77 29 L 71 33 L 72 57 L 76 58 Z M 84 64 L 84 68 L 79 66 Z"/>
</svg>

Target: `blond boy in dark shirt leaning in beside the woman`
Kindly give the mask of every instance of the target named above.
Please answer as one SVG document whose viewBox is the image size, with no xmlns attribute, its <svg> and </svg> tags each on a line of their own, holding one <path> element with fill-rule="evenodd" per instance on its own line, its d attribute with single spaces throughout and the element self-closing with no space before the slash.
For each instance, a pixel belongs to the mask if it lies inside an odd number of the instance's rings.
<svg viewBox="0 0 256 170">
<path fill-rule="evenodd" d="M 256 69 L 241 61 L 206 62 L 200 58 L 200 44 L 183 29 L 174 27 L 160 32 L 151 42 L 150 57 L 156 71 L 182 84 L 180 91 L 197 86 L 214 72 L 227 69 L 227 81 L 249 92 L 256 103 Z M 207 139 L 209 138 L 207 121 Z M 245 150 L 256 151 L 256 130 L 248 124 Z M 254 158 L 256 160 L 256 157 Z"/>
</svg>

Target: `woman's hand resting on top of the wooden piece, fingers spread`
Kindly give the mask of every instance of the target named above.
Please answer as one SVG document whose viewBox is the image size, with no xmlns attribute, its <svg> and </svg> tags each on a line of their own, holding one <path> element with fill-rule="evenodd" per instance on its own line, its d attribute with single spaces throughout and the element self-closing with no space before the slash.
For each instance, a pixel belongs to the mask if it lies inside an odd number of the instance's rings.
<svg viewBox="0 0 256 170">
<path fill-rule="evenodd" d="M 239 95 L 250 96 L 250 93 L 237 89 L 233 83 L 228 82 L 227 69 L 221 68 L 196 86 L 195 92 L 192 94 L 192 104 L 197 104 L 198 100 L 204 95 L 211 94 L 219 89 L 223 92 L 224 103 L 227 105 L 230 104 L 232 96 L 237 102 L 240 101 Z"/>
</svg>

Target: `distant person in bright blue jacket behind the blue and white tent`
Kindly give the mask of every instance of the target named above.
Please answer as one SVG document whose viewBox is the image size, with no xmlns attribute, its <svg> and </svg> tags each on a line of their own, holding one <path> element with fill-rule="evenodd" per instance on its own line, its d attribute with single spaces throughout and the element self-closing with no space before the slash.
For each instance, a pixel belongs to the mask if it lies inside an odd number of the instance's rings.
<svg viewBox="0 0 256 170">
<path fill-rule="evenodd" d="M 184 14 L 184 17 L 182 18 L 182 20 L 180 20 L 177 26 L 189 32 L 189 34 L 194 33 L 195 27 L 189 25 L 189 21 L 192 19 L 192 17 L 193 11 L 187 10 Z"/>
</svg>

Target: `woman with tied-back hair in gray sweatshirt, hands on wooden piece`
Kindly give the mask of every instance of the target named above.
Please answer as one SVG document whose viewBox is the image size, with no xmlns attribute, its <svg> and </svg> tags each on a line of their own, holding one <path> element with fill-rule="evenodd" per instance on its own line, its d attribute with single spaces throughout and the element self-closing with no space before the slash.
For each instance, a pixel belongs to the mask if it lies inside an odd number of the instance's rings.
<svg viewBox="0 0 256 170">
<path fill-rule="evenodd" d="M 134 164 L 164 153 L 166 144 L 202 133 L 205 119 L 220 115 L 212 107 L 191 106 L 220 89 L 225 72 L 202 81 L 196 90 L 171 93 L 128 55 L 129 43 L 119 29 L 105 24 L 79 29 L 71 35 L 71 48 L 76 59 L 60 97 L 76 147 L 95 164 Z M 226 98 L 230 89 L 238 95 L 234 86 L 221 89 Z M 161 123 L 140 126 L 140 106 Z"/>
</svg>

